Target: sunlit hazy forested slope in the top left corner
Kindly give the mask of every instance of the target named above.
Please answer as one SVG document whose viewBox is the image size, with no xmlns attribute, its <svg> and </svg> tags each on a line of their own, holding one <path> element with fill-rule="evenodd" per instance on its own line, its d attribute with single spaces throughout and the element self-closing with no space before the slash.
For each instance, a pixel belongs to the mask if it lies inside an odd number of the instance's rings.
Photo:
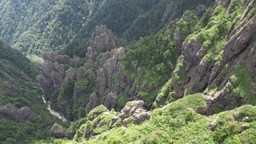
<svg viewBox="0 0 256 144">
<path fill-rule="evenodd" d="M 0 38 L 24 54 L 60 49 L 102 0 L 3 0 Z"/>
</svg>

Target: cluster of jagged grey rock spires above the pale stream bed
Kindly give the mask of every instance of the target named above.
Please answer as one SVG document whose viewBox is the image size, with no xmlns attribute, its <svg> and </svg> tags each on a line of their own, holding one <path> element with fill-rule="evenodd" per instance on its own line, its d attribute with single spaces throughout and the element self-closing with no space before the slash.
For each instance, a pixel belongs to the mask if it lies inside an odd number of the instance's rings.
<svg viewBox="0 0 256 144">
<path fill-rule="evenodd" d="M 68 56 L 59 55 L 57 51 L 42 53 L 42 58 L 45 60 L 42 65 L 44 74 L 38 75 L 37 80 L 46 92 L 48 100 L 51 99 L 53 93 L 59 91 L 63 83 L 76 85 L 71 97 L 72 100 L 70 98 L 58 98 L 57 107 L 56 105 L 53 106 L 55 110 L 62 111 L 66 116 L 66 109 L 69 108 L 71 101 L 79 103 L 79 98 L 86 94 L 91 95 L 89 96 L 89 101 L 84 106 L 86 107 L 86 112 L 97 107 L 99 103 L 106 105 L 109 109 L 116 108 L 117 95 L 124 92 L 128 81 L 127 77 L 122 74 L 125 66 L 121 64 L 121 59 L 128 49 L 113 49 L 110 52 L 107 51 L 100 54 L 95 61 L 93 60 L 94 55 L 98 53 L 100 48 L 110 42 L 121 44 L 122 39 L 118 39 L 105 25 L 97 26 L 96 36 L 92 34 L 90 47 L 87 49 L 87 62 L 78 69 L 70 67 L 68 70 L 65 70 L 64 64 L 68 64 L 70 61 L 75 63 L 79 59 L 71 60 Z M 94 69 L 95 66 L 98 67 L 97 71 Z M 99 87 L 99 91 L 90 93 L 88 83 L 95 84 L 93 87 Z"/>
</svg>

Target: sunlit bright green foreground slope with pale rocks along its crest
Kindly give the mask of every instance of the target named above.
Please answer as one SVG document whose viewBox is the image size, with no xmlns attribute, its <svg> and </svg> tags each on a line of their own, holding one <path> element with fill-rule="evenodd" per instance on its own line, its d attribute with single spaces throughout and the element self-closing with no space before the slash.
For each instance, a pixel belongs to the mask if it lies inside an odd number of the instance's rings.
<svg viewBox="0 0 256 144">
<path fill-rule="evenodd" d="M 67 129 L 77 130 L 73 140 L 53 139 L 50 144 L 254 144 L 256 107 L 244 105 L 213 116 L 200 113 L 207 96 L 195 94 L 153 111 L 143 101 L 131 101 L 120 112 L 103 105 Z M 54 126 L 56 126 L 55 124 Z M 77 128 L 80 127 L 80 128 Z M 37 144 L 46 144 L 40 141 Z"/>
</svg>

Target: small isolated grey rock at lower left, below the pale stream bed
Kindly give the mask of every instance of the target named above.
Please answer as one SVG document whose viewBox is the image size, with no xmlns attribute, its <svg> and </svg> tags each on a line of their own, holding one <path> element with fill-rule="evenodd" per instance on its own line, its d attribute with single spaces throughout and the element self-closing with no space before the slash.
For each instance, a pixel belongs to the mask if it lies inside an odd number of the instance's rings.
<svg viewBox="0 0 256 144">
<path fill-rule="evenodd" d="M 63 139 L 65 137 L 66 131 L 66 128 L 63 128 L 61 125 L 55 123 L 50 130 L 50 136 L 57 139 Z"/>
</svg>

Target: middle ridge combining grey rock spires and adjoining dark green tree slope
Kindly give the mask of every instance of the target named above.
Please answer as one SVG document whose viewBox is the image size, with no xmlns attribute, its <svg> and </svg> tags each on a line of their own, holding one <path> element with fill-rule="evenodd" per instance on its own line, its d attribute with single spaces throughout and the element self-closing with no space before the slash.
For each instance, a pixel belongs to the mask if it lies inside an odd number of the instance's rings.
<svg viewBox="0 0 256 144">
<path fill-rule="evenodd" d="M 37 80 L 52 108 L 70 120 L 85 117 L 99 104 L 121 110 L 129 100 L 137 98 L 144 100 L 145 107 L 150 108 L 159 85 L 171 76 L 172 65 L 179 53 L 170 39 L 173 30 L 165 28 L 157 35 L 134 42 L 130 48 L 119 48 L 122 39 L 114 36 L 105 25 L 97 26 L 87 48 L 86 60 L 71 59 L 57 51 L 44 52 L 44 75 L 39 75 Z M 145 51 L 151 52 L 139 58 Z"/>
</svg>

